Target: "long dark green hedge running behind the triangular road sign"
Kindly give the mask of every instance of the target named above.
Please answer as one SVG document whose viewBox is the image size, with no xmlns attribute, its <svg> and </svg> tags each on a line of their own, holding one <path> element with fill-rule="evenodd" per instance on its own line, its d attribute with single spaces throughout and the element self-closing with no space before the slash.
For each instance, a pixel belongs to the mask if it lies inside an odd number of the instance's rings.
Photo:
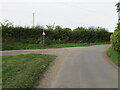
<svg viewBox="0 0 120 90">
<path fill-rule="evenodd" d="M 32 28 L 22 28 L 22 27 L 8 27 L 2 28 L 3 38 L 12 37 L 15 39 L 30 39 L 33 38 L 34 41 L 42 38 L 43 29 L 32 29 Z M 76 42 L 107 42 L 110 41 L 110 35 L 104 28 L 83 28 L 78 27 L 73 31 L 68 28 L 55 28 L 54 30 L 45 29 L 46 35 L 45 39 L 47 41 L 59 41 L 62 43 L 76 43 Z"/>
</svg>

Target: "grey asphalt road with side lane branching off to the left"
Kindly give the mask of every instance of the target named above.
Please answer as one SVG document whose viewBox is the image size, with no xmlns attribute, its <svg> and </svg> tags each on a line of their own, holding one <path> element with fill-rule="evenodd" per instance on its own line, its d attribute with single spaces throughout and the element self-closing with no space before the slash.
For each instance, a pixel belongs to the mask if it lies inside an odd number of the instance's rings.
<svg viewBox="0 0 120 90">
<path fill-rule="evenodd" d="M 106 55 L 110 45 L 3 51 L 2 55 L 54 54 L 58 57 L 35 88 L 118 88 L 118 69 Z"/>
</svg>

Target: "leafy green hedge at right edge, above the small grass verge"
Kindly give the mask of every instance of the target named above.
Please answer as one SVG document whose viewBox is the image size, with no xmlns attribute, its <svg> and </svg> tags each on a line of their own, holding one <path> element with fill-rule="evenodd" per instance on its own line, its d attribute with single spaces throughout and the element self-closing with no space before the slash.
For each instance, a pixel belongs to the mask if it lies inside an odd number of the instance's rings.
<svg viewBox="0 0 120 90">
<path fill-rule="evenodd" d="M 115 30 L 111 37 L 111 41 L 114 50 L 120 52 L 120 30 Z"/>
</svg>

